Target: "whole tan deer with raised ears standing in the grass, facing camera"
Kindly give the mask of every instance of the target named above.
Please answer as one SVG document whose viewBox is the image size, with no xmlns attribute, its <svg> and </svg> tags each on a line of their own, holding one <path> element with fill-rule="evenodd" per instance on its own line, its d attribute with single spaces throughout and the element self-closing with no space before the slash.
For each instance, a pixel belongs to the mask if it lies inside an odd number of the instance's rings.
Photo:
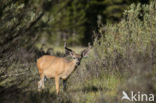
<svg viewBox="0 0 156 103">
<path fill-rule="evenodd" d="M 84 49 L 81 54 L 75 53 L 73 50 L 64 46 L 66 53 L 72 57 L 71 60 L 67 60 L 64 57 L 56 57 L 50 55 L 44 55 L 37 60 L 37 67 L 40 74 L 40 81 L 38 82 L 38 90 L 44 88 L 44 77 L 55 78 L 56 93 L 59 93 L 59 80 L 63 79 L 63 89 L 66 89 L 66 80 L 74 71 L 74 69 L 80 65 L 81 59 L 86 56 L 91 49 L 89 45 L 87 49 Z"/>
</svg>

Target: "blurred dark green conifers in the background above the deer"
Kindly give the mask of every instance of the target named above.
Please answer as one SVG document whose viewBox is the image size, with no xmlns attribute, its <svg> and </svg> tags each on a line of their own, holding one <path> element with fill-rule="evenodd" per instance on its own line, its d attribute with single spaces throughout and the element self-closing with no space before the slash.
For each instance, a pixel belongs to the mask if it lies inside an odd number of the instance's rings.
<svg viewBox="0 0 156 103">
<path fill-rule="evenodd" d="M 51 1 L 47 12 L 47 34 L 52 43 L 67 40 L 69 44 L 87 44 L 98 24 L 117 22 L 132 1 L 125 0 L 60 0 Z M 54 3 L 55 2 L 55 3 Z M 45 18 L 46 18 L 45 17 Z M 63 43 L 62 43 L 63 44 Z"/>
</svg>

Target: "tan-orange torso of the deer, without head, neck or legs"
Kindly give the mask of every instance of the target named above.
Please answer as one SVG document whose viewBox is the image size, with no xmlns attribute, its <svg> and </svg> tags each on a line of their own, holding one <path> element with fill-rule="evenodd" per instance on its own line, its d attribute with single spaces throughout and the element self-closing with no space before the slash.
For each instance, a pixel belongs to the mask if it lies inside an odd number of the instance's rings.
<svg viewBox="0 0 156 103">
<path fill-rule="evenodd" d="M 55 76 L 66 78 L 73 71 L 74 62 L 61 57 L 45 55 L 37 60 L 37 67 L 39 73 L 48 78 Z"/>
</svg>

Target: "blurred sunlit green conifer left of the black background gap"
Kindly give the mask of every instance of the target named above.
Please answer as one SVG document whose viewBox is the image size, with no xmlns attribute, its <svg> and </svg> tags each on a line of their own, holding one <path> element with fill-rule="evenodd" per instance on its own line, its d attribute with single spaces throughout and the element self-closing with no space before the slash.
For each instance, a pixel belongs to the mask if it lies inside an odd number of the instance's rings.
<svg viewBox="0 0 156 103">
<path fill-rule="evenodd" d="M 54 42 L 57 42 L 58 39 L 68 39 L 69 43 L 80 43 L 85 31 L 83 26 L 86 21 L 84 7 L 83 1 L 78 0 L 66 0 L 54 5 L 51 15 L 55 20 L 50 22 L 52 26 L 50 29 L 52 33 L 60 35 L 57 39 L 55 35 L 52 35 Z"/>
</svg>

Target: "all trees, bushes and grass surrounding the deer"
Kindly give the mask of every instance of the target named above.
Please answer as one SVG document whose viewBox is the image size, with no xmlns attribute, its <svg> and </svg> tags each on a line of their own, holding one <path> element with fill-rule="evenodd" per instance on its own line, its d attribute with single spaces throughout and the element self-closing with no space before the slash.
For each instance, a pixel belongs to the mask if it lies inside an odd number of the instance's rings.
<svg viewBox="0 0 156 103">
<path fill-rule="evenodd" d="M 64 56 L 64 41 L 93 48 L 67 92 L 52 79 L 37 92 L 37 58 Z M 123 90 L 156 95 L 155 75 L 155 0 L 0 1 L 1 103 L 129 103 Z"/>
</svg>

